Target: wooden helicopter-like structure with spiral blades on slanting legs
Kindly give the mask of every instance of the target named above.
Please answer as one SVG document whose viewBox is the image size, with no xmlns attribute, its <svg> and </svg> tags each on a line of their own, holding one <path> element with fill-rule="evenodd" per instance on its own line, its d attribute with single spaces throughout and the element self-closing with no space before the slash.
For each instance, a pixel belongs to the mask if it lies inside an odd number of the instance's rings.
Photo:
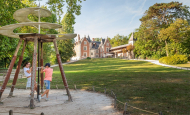
<svg viewBox="0 0 190 115">
<path fill-rule="evenodd" d="M 34 15 L 38 17 L 38 22 L 32 22 L 31 20 L 28 19 L 28 15 Z M 13 96 L 13 91 L 14 91 L 14 87 L 16 85 L 17 82 L 17 78 L 18 78 L 18 74 L 20 71 L 20 67 L 21 67 L 21 63 L 23 60 L 23 54 L 25 51 L 25 47 L 27 42 L 34 42 L 34 53 L 33 53 L 33 61 L 32 61 L 32 72 L 31 72 L 31 80 L 32 80 L 32 86 L 31 86 L 31 99 L 30 99 L 30 104 L 29 107 L 30 108 L 35 108 L 35 104 L 34 104 L 34 85 L 36 82 L 36 69 L 37 69 L 37 62 L 38 62 L 38 96 L 39 96 L 39 92 L 40 92 L 40 83 L 39 83 L 39 67 L 43 66 L 43 43 L 44 42 L 53 42 L 54 47 L 55 47 L 55 51 L 56 51 L 56 57 L 58 60 L 58 64 L 59 64 L 59 68 L 60 68 L 60 72 L 62 75 L 62 80 L 68 95 L 68 100 L 72 101 L 72 97 L 71 94 L 69 92 L 69 88 L 68 88 L 68 84 L 67 84 L 67 79 L 64 73 L 64 69 L 62 66 L 62 62 L 61 62 L 61 58 L 59 55 L 59 51 L 58 51 L 58 47 L 57 47 L 57 41 L 58 40 L 66 40 L 66 39 L 73 39 L 74 37 L 76 37 L 76 34 L 40 34 L 40 28 L 45 28 L 45 29 L 57 29 L 57 28 L 61 28 L 62 26 L 59 24 L 55 24 L 55 23 L 48 23 L 48 22 L 40 22 L 40 17 L 48 17 L 51 16 L 52 13 L 47 10 L 47 9 L 43 9 L 40 7 L 35 7 L 35 8 L 23 8 L 20 10 L 17 10 L 13 17 L 19 22 L 17 24 L 11 24 L 11 25 L 6 25 L 0 28 L 0 34 L 4 35 L 4 36 L 8 36 L 8 37 L 12 37 L 12 39 L 19 39 L 18 45 L 16 47 L 15 53 L 13 55 L 13 58 L 11 60 L 10 66 L 8 68 L 5 80 L 3 82 L 3 85 L 1 86 L 1 90 L 0 90 L 0 100 L 2 97 L 2 94 L 6 88 L 6 85 L 8 83 L 8 80 L 10 78 L 10 74 L 11 71 L 13 69 L 14 63 L 16 61 L 17 58 L 17 53 L 19 51 L 19 48 L 22 44 L 22 42 L 24 41 L 23 44 L 23 48 L 22 48 L 22 52 L 19 58 L 19 62 L 18 62 L 18 66 L 14 75 L 14 79 L 12 82 L 12 86 L 11 86 L 11 91 L 9 93 L 9 97 Z M 18 28 L 18 27 L 22 27 L 22 26 L 33 26 L 38 28 L 39 32 L 38 33 L 14 33 L 13 30 Z M 58 36 L 58 37 L 57 37 Z M 61 36 L 61 37 L 60 37 Z M 41 50 L 41 55 L 39 54 L 39 49 Z M 37 58 L 38 56 L 38 58 Z M 39 59 L 40 58 L 40 59 Z M 40 60 L 40 61 L 39 61 Z M 43 92 L 43 74 L 41 74 L 41 91 Z"/>
</svg>

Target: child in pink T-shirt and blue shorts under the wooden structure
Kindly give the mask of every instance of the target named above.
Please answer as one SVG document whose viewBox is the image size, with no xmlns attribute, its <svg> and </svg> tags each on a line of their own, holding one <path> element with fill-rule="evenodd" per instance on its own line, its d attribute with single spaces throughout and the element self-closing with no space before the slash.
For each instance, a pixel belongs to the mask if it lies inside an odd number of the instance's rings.
<svg viewBox="0 0 190 115">
<path fill-rule="evenodd" d="M 41 73 L 43 72 L 45 72 L 44 84 L 46 86 L 46 91 L 41 95 L 41 97 L 43 97 L 46 94 L 46 101 L 48 101 L 50 82 L 52 81 L 52 74 L 53 74 L 53 69 L 50 68 L 50 63 L 46 63 L 44 70 L 43 70 L 43 66 L 41 67 Z"/>
</svg>

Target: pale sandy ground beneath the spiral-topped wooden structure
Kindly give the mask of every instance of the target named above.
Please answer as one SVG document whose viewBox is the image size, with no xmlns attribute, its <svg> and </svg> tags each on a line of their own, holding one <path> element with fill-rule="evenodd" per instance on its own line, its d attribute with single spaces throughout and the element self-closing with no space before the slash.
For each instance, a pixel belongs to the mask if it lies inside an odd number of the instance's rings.
<svg viewBox="0 0 190 115">
<path fill-rule="evenodd" d="M 41 102 L 35 101 L 35 109 L 27 108 L 30 102 L 30 90 L 15 89 L 14 97 L 6 98 L 10 89 L 6 89 L 2 96 L 0 115 L 7 115 L 13 110 L 14 115 L 122 115 L 113 108 L 113 99 L 100 93 L 83 90 L 70 90 L 73 102 L 67 101 L 65 90 L 50 90 L 49 101 L 45 97 Z M 35 94 L 36 98 L 36 94 Z"/>
</svg>

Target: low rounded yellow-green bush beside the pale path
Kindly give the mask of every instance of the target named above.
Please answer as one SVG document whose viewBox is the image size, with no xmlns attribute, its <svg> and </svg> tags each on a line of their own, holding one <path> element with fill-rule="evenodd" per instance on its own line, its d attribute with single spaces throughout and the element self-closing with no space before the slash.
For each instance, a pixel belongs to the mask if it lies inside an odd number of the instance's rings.
<svg viewBox="0 0 190 115">
<path fill-rule="evenodd" d="M 160 63 L 164 64 L 185 64 L 188 62 L 188 58 L 186 55 L 173 55 L 168 57 L 162 57 L 159 59 Z"/>
</svg>

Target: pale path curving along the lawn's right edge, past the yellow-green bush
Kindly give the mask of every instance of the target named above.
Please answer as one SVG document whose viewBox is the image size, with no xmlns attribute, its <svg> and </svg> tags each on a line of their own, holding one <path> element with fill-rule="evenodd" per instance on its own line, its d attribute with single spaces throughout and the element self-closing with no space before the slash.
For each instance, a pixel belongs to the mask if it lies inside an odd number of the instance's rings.
<svg viewBox="0 0 190 115">
<path fill-rule="evenodd" d="M 137 60 L 137 59 L 133 59 L 133 60 Z M 171 68 L 183 69 L 183 70 L 190 70 L 190 68 L 177 67 L 177 66 L 171 66 L 171 65 L 162 64 L 162 63 L 159 63 L 158 60 L 143 60 L 143 59 L 138 59 L 138 60 L 139 60 L 139 61 L 151 62 L 151 63 L 153 63 L 153 64 L 157 64 L 157 65 L 161 65 L 161 66 L 165 66 L 165 67 L 171 67 Z"/>
</svg>

